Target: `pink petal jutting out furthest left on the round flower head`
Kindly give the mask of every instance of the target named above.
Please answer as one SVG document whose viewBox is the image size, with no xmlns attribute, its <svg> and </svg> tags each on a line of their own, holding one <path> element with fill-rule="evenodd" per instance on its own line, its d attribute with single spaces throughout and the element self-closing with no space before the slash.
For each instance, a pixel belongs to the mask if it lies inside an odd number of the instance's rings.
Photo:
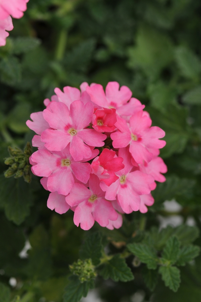
<svg viewBox="0 0 201 302">
<path fill-rule="evenodd" d="M 35 133 L 41 135 L 41 133 L 44 130 L 50 129 L 48 122 L 46 122 L 46 120 L 43 117 L 43 111 L 31 113 L 30 117 L 33 120 L 33 122 L 31 120 L 27 120 L 26 125 L 31 130 L 35 131 Z"/>
</svg>

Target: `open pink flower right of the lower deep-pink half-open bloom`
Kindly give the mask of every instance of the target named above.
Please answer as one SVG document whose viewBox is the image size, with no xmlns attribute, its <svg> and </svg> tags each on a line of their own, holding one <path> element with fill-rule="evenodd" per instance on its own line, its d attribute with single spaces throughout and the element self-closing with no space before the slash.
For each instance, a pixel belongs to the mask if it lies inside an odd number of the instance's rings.
<svg viewBox="0 0 201 302">
<path fill-rule="evenodd" d="M 149 194 L 151 191 L 150 184 L 154 182 L 151 175 L 141 171 L 133 171 L 131 156 L 128 148 L 119 149 L 119 156 L 123 157 L 124 169 L 116 172 L 119 179 L 109 187 L 104 182 L 100 183 L 103 191 L 106 191 L 105 198 L 108 200 L 116 199 L 116 195 L 122 210 L 129 214 L 132 211 L 138 211 L 140 208 L 140 196 Z"/>
</svg>

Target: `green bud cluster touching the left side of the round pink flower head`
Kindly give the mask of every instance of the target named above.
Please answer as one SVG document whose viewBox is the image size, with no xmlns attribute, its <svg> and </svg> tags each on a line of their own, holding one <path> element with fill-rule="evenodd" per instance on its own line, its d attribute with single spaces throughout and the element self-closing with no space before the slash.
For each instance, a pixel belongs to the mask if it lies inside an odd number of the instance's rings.
<svg viewBox="0 0 201 302">
<path fill-rule="evenodd" d="M 29 163 L 29 157 L 32 154 L 31 144 L 28 142 L 24 151 L 19 148 L 8 147 L 10 157 L 5 159 L 5 164 L 10 165 L 4 172 L 5 177 L 14 176 L 19 178 L 24 177 L 25 182 L 31 182 L 31 165 Z"/>
</svg>

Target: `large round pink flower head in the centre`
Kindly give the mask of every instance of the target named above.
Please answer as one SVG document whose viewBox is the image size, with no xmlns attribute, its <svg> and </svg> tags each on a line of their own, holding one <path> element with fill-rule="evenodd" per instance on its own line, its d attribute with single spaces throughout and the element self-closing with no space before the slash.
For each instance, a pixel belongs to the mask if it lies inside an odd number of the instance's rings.
<svg viewBox="0 0 201 302">
<path fill-rule="evenodd" d="M 159 149 L 165 132 L 151 127 L 144 105 L 127 86 L 84 82 L 55 88 L 43 112 L 27 126 L 37 135 L 30 157 L 32 172 L 51 193 L 47 206 L 62 214 L 74 211 L 74 223 L 89 230 L 94 221 L 110 230 L 122 225 L 123 213 L 147 212 L 155 181 L 164 182 L 167 167 Z"/>
</svg>

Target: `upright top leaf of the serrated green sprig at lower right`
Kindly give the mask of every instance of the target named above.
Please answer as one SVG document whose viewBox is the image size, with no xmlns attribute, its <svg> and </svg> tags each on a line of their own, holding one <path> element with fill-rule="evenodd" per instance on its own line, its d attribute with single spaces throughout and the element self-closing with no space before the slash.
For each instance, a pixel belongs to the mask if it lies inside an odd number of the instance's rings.
<svg viewBox="0 0 201 302">
<path fill-rule="evenodd" d="M 166 242 L 166 246 L 163 249 L 162 253 L 162 261 L 165 260 L 169 262 L 169 264 L 174 264 L 180 252 L 180 242 L 175 236 L 171 236 L 170 239 Z"/>
</svg>

